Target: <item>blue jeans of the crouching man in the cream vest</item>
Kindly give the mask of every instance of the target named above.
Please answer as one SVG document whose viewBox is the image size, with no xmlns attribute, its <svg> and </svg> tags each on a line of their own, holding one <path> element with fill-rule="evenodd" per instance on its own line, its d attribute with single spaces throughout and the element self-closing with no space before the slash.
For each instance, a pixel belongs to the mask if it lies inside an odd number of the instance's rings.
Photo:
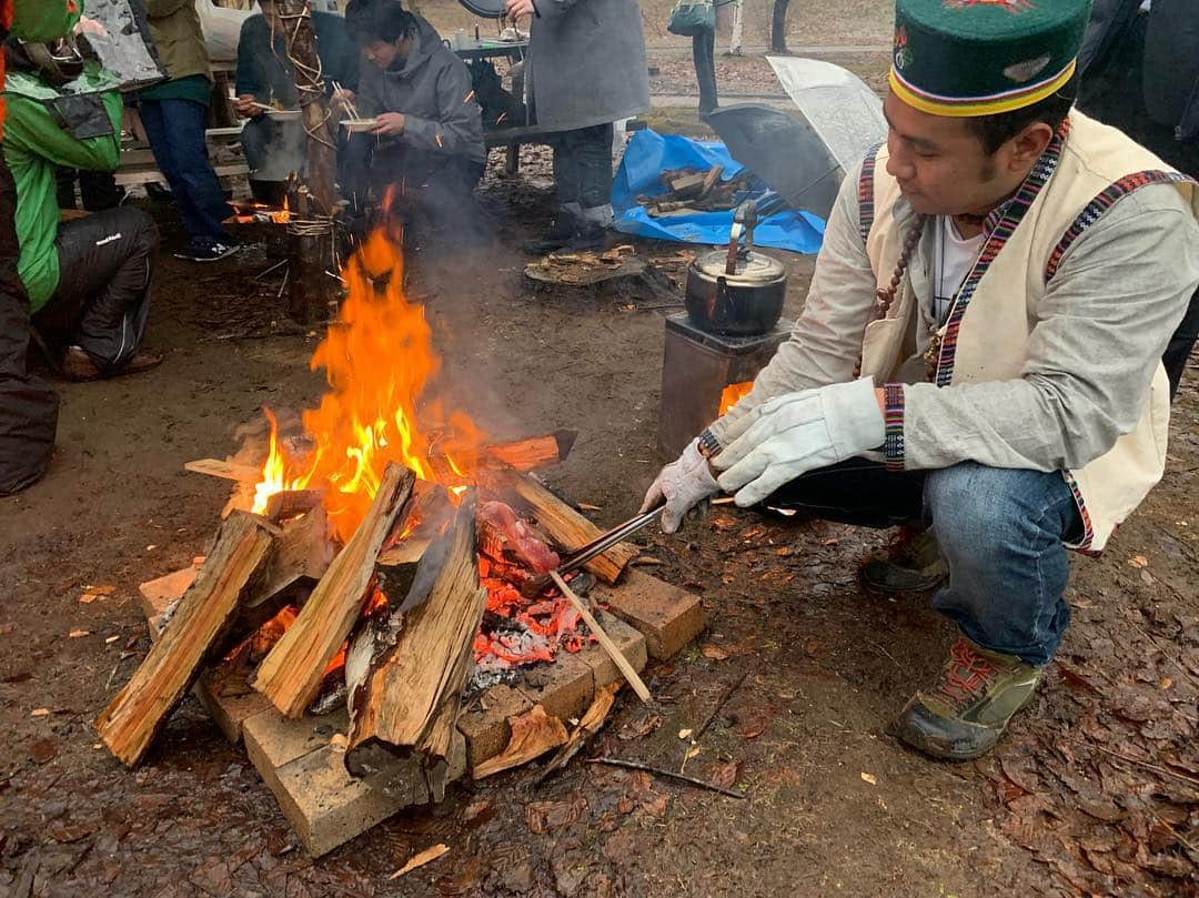
<svg viewBox="0 0 1199 898">
<path fill-rule="evenodd" d="M 894 474 L 852 459 L 791 481 L 765 505 L 862 526 L 932 523 L 950 567 L 933 608 L 983 649 L 1046 664 L 1070 623 L 1064 543 L 1083 524 L 1056 471 L 966 462 Z"/>
</svg>

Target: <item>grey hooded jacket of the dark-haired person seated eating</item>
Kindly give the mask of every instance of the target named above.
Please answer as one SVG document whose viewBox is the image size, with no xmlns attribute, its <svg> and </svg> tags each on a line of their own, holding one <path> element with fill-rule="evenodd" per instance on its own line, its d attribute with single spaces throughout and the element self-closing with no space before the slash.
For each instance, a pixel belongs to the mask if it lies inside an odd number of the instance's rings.
<svg viewBox="0 0 1199 898">
<path fill-rule="evenodd" d="M 403 64 L 386 71 L 362 65 L 355 106 L 362 115 L 403 113 L 404 133 L 396 141 L 404 146 L 483 162 L 483 122 L 466 64 L 441 43 L 433 25 L 420 16 L 416 22 Z"/>
</svg>

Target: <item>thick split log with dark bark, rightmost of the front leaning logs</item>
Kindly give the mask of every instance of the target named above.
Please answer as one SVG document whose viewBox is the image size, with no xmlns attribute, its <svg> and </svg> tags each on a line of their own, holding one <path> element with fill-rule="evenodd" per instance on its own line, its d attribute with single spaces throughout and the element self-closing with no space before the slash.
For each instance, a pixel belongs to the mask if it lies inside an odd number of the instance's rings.
<svg viewBox="0 0 1199 898">
<path fill-rule="evenodd" d="M 487 599 L 475 513 L 469 492 L 446 532 L 429 543 L 403 603 L 368 625 L 347 652 L 345 766 L 355 776 L 382 766 L 372 761 L 378 752 L 416 752 L 427 770 L 445 772 Z"/>
</svg>

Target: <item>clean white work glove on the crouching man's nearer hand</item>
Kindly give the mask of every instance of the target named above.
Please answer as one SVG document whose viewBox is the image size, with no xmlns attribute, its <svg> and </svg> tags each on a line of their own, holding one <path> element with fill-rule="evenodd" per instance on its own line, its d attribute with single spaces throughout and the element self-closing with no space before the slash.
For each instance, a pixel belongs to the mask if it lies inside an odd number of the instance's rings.
<svg viewBox="0 0 1199 898">
<path fill-rule="evenodd" d="M 712 458 L 725 493 L 757 505 L 801 474 L 882 445 L 886 428 L 874 381 L 862 378 L 787 393 L 733 422 Z"/>
</svg>

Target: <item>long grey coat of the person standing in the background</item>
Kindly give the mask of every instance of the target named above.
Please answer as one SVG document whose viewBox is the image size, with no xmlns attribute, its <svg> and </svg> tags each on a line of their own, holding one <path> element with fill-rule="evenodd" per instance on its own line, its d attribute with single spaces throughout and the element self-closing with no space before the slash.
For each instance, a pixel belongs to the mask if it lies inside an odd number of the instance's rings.
<svg viewBox="0 0 1199 898">
<path fill-rule="evenodd" d="M 537 123 L 603 125 L 650 108 L 637 0 L 535 0 L 529 36 Z"/>
</svg>

